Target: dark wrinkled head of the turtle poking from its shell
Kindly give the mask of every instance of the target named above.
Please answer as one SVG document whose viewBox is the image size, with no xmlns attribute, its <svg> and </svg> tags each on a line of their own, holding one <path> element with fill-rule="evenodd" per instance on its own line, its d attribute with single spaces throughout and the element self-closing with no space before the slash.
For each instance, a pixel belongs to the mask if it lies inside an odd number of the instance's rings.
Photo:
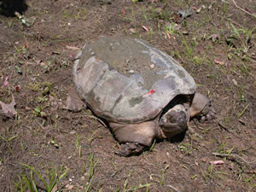
<svg viewBox="0 0 256 192">
<path fill-rule="evenodd" d="M 160 138 L 169 138 L 187 129 L 189 111 L 182 104 L 175 105 L 160 117 Z"/>
</svg>

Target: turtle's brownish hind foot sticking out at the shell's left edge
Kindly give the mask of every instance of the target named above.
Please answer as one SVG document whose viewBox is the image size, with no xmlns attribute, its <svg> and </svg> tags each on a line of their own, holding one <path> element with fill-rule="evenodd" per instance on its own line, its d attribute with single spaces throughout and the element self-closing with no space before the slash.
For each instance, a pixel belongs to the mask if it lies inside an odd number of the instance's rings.
<svg viewBox="0 0 256 192">
<path fill-rule="evenodd" d="M 85 107 L 85 103 L 80 99 L 76 90 L 74 88 L 68 90 L 66 108 L 74 112 L 79 112 Z"/>
</svg>

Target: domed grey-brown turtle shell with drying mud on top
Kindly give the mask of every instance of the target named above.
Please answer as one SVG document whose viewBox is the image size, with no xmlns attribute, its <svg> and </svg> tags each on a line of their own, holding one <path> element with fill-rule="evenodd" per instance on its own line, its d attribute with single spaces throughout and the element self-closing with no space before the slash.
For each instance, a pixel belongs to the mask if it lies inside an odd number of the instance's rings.
<svg viewBox="0 0 256 192">
<path fill-rule="evenodd" d="M 154 119 L 175 96 L 195 93 L 194 79 L 170 55 L 124 36 L 85 44 L 73 81 L 96 115 L 120 124 Z"/>
</svg>

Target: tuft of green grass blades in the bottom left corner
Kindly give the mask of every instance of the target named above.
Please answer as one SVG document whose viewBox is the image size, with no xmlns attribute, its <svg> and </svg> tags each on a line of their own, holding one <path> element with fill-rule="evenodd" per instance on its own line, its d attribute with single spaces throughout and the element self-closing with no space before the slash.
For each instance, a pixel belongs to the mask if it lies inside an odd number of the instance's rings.
<svg viewBox="0 0 256 192">
<path fill-rule="evenodd" d="M 32 166 L 28 166 L 27 164 L 20 163 L 22 166 L 30 170 L 30 175 L 27 176 L 25 173 L 21 173 L 18 176 L 18 182 L 15 183 L 15 191 L 20 192 L 38 192 L 42 191 L 42 185 L 39 186 L 37 183 L 38 179 L 35 179 L 35 175 L 39 178 L 39 181 L 44 184 L 44 191 L 52 192 L 57 191 L 57 183 L 60 182 L 62 177 L 67 175 L 68 169 L 62 171 L 61 175 L 59 176 L 58 172 L 56 171 L 55 167 L 52 166 L 48 172 L 48 182 L 44 179 L 44 177 Z"/>
</svg>

